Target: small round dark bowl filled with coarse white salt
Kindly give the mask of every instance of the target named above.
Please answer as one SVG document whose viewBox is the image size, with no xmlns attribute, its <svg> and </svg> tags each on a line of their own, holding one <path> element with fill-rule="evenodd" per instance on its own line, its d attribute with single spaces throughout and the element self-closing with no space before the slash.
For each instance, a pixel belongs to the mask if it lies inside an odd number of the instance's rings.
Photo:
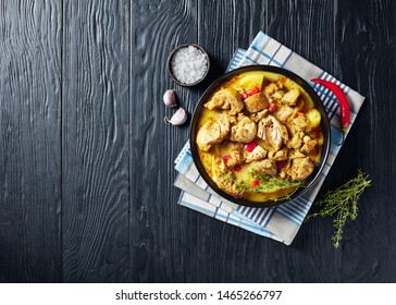
<svg viewBox="0 0 396 305">
<path fill-rule="evenodd" d="M 183 87 L 202 82 L 208 75 L 209 66 L 208 53 L 195 44 L 178 46 L 168 57 L 168 72 Z"/>
</svg>

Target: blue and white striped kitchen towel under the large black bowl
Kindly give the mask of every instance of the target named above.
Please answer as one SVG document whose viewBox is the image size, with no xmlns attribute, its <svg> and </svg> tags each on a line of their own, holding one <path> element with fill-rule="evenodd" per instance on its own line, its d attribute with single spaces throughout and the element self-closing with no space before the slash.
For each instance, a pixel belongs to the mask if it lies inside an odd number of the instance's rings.
<svg viewBox="0 0 396 305">
<path fill-rule="evenodd" d="M 313 77 L 335 82 L 348 97 L 351 109 L 350 126 L 354 124 L 364 100 L 363 96 L 262 32 L 256 36 L 248 50 L 238 49 L 235 52 L 227 71 L 251 64 L 281 66 L 298 74 L 309 83 Z M 312 84 L 312 87 L 317 90 L 329 113 L 332 144 L 324 170 L 309 192 L 279 207 L 252 208 L 233 204 L 219 196 L 202 180 L 194 164 L 189 143 L 187 143 L 175 160 L 175 169 L 180 174 L 174 185 L 182 190 L 178 204 L 289 245 L 296 236 L 341 148 L 337 146 L 342 139 L 337 100 L 329 89 L 318 84 Z M 349 132 L 349 129 L 347 132 Z"/>
</svg>

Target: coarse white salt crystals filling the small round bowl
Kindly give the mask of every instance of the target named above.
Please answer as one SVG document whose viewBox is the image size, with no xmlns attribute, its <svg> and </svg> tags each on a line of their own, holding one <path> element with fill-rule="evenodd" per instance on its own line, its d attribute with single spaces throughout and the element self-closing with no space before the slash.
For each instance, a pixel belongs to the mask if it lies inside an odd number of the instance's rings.
<svg viewBox="0 0 396 305">
<path fill-rule="evenodd" d="M 194 84 L 200 81 L 208 70 L 207 56 L 198 48 L 188 46 L 177 50 L 171 61 L 173 76 L 181 83 Z"/>
</svg>

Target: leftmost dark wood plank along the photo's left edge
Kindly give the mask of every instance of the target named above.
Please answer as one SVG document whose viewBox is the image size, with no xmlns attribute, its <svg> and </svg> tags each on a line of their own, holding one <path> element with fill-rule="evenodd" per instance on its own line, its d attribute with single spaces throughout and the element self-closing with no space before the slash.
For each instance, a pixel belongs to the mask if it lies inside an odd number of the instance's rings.
<svg viewBox="0 0 396 305">
<path fill-rule="evenodd" d="M 59 1 L 0 3 L 0 281 L 62 277 Z"/>
</svg>

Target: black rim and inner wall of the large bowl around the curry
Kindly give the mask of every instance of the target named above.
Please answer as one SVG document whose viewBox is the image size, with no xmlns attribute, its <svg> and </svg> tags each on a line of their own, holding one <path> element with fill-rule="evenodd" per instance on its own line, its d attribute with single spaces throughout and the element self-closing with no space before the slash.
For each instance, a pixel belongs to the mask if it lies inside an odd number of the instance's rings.
<svg viewBox="0 0 396 305">
<path fill-rule="evenodd" d="M 293 82 L 295 82 L 296 84 L 298 84 L 299 86 L 301 86 L 306 90 L 306 93 L 311 97 L 315 108 L 320 111 L 320 113 L 322 115 L 321 129 L 322 129 L 322 133 L 323 133 L 323 146 L 322 146 L 320 162 L 318 163 L 318 166 L 315 167 L 315 169 L 313 170 L 311 175 L 306 181 L 306 185 L 304 187 L 298 188 L 295 193 L 293 193 L 287 198 L 281 198 L 281 199 L 277 199 L 277 200 L 267 200 L 267 202 L 261 202 L 261 203 L 260 202 L 251 202 L 251 200 L 247 200 L 247 199 L 243 199 L 243 198 L 237 199 L 237 198 L 233 197 L 232 195 L 230 195 L 230 194 L 225 193 L 224 191 L 222 191 L 214 183 L 214 181 L 209 176 L 209 174 L 205 170 L 205 167 L 201 163 L 201 160 L 199 158 L 198 147 L 197 147 L 197 144 L 196 144 L 196 137 L 197 137 L 197 133 L 198 133 L 198 122 L 199 122 L 200 113 L 201 113 L 202 108 L 203 108 L 203 103 L 206 103 L 208 101 L 209 97 L 219 87 L 219 85 L 221 85 L 224 82 L 230 81 L 231 78 L 233 78 L 234 76 L 236 76 L 236 75 L 238 75 L 240 73 L 249 72 L 249 71 L 267 71 L 267 72 L 272 72 L 272 73 L 276 73 L 276 74 L 284 75 L 284 76 L 288 77 L 289 80 L 292 80 Z M 194 159 L 194 162 L 195 162 L 195 164 L 196 164 L 196 167 L 198 169 L 198 172 L 200 173 L 202 179 L 206 181 L 206 183 L 214 192 L 216 192 L 220 196 L 224 197 L 225 199 L 227 199 L 227 200 L 230 200 L 232 203 L 235 203 L 235 204 L 238 204 L 238 205 L 244 205 L 244 206 L 252 206 L 252 207 L 279 206 L 281 204 L 285 204 L 285 203 L 287 203 L 289 200 L 293 200 L 293 199 L 301 196 L 306 192 L 308 192 L 308 190 L 311 188 L 311 186 L 314 184 L 318 176 L 321 174 L 321 171 L 324 168 L 325 161 L 326 161 L 327 156 L 329 156 L 329 150 L 330 150 L 330 123 L 329 123 L 327 113 L 326 113 L 326 111 L 325 111 L 325 109 L 323 107 L 323 103 L 322 103 L 321 99 L 319 98 L 318 94 L 300 76 L 298 76 L 297 74 L 295 74 L 295 73 L 293 73 L 293 72 L 290 72 L 288 70 L 277 68 L 277 66 L 272 66 L 272 65 L 248 65 L 248 66 L 243 66 L 243 68 L 235 69 L 235 70 L 224 74 L 223 76 L 219 77 L 203 93 L 203 95 L 199 99 L 199 102 L 196 106 L 194 114 L 193 114 L 191 129 L 190 129 L 190 147 L 191 147 L 193 159 Z"/>
</svg>

